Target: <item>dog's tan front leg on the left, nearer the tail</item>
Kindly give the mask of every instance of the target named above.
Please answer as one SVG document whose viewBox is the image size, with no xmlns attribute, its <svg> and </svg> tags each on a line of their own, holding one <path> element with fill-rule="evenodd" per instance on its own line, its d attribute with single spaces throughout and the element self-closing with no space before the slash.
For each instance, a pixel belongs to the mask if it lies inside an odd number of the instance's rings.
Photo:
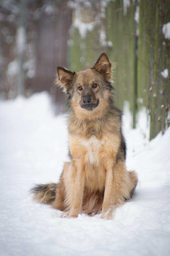
<svg viewBox="0 0 170 256">
<path fill-rule="evenodd" d="M 68 214 L 69 218 L 77 218 L 78 214 L 81 212 L 83 193 L 84 193 L 84 183 L 85 183 L 85 173 L 83 170 L 83 165 L 81 159 L 75 161 L 76 173 L 72 188 L 72 199 L 70 203 L 70 212 Z"/>
</svg>

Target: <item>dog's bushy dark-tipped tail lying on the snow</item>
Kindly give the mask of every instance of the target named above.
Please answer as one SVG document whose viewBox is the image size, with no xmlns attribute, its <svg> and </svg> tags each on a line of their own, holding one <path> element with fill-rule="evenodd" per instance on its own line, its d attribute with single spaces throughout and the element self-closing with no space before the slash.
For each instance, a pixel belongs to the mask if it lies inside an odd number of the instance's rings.
<svg viewBox="0 0 170 256">
<path fill-rule="evenodd" d="M 56 198 L 57 183 L 36 184 L 30 192 L 33 199 L 42 204 L 51 204 Z"/>
</svg>

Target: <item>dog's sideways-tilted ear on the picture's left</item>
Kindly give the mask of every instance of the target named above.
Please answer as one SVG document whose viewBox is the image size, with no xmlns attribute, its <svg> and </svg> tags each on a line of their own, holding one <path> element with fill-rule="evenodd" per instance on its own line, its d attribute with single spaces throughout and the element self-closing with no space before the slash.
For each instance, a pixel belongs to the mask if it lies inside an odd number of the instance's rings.
<svg viewBox="0 0 170 256">
<path fill-rule="evenodd" d="M 55 84 L 61 87 L 64 92 L 67 92 L 73 81 L 74 74 L 75 72 L 72 72 L 69 69 L 57 67 L 57 77 L 55 80 Z"/>
</svg>

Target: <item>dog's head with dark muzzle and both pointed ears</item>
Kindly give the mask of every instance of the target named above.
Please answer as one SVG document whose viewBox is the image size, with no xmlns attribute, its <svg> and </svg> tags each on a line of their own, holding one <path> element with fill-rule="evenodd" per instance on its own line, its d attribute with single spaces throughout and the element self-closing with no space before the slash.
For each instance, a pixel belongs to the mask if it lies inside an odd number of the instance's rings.
<svg viewBox="0 0 170 256">
<path fill-rule="evenodd" d="M 112 97 L 111 63 L 102 53 L 93 68 L 78 73 L 57 67 L 58 84 L 67 94 L 69 108 L 77 117 L 94 118 L 104 114 Z"/>
</svg>

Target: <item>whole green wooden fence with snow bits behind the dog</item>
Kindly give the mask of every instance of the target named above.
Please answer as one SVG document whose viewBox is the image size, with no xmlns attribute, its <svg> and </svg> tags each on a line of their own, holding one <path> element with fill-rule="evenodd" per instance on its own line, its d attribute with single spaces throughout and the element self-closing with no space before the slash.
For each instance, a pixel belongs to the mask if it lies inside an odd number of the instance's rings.
<svg viewBox="0 0 170 256">
<path fill-rule="evenodd" d="M 170 21 L 170 1 L 109 1 L 101 8 L 101 18 L 93 29 L 81 35 L 73 24 L 70 31 L 68 66 L 79 71 L 93 66 L 101 52 L 116 62 L 114 73 L 115 102 L 123 110 L 129 102 L 137 124 L 137 112 L 146 108 L 150 122 L 150 139 L 169 125 L 170 40 L 162 33 Z M 98 13 L 96 14 L 98 15 Z M 98 16 L 97 16 L 98 17 Z M 74 20 L 74 17 L 73 17 Z M 104 35 L 104 36 L 103 36 Z"/>
</svg>

